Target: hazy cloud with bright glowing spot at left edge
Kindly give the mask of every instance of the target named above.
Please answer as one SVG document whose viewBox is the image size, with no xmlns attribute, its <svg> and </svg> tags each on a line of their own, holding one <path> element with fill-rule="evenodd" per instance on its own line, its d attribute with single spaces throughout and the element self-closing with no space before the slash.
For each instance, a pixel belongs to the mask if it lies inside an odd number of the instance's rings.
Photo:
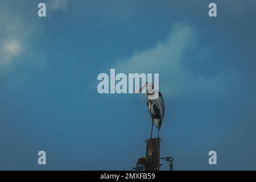
<svg viewBox="0 0 256 182">
<path fill-rule="evenodd" d="M 0 80 L 5 80 L 10 85 L 22 85 L 26 77 L 22 75 L 26 73 L 20 71 L 20 65 L 34 64 L 37 61 L 32 58 L 36 51 L 31 40 L 37 36 L 38 24 L 32 22 L 22 8 L 14 7 L 11 3 L 1 5 L 0 24 Z"/>
</svg>

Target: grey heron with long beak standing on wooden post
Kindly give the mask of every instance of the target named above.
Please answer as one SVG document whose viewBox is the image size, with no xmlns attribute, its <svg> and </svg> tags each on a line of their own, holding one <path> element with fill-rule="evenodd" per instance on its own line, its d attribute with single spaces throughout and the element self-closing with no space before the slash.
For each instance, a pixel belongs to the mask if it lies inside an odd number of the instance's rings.
<svg viewBox="0 0 256 182">
<path fill-rule="evenodd" d="M 141 89 L 139 89 L 139 92 L 141 92 L 143 89 L 146 90 L 147 95 L 147 108 L 152 118 L 152 127 L 151 127 L 151 137 L 152 138 L 152 132 L 153 132 L 153 125 L 155 123 L 156 128 L 158 129 L 158 138 L 159 138 L 159 130 L 163 122 L 164 117 L 164 101 L 163 96 L 159 92 L 159 90 L 154 90 L 154 84 L 151 82 L 146 82 L 142 86 Z M 153 96 L 158 92 L 158 97 L 154 98 Z"/>
</svg>

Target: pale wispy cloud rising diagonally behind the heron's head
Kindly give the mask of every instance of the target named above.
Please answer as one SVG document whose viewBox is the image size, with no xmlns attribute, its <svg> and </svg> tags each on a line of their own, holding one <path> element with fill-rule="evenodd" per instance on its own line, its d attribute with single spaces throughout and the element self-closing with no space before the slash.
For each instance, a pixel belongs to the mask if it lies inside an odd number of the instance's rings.
<svg viewBox="0 0 256 182">
<path fill-rule="evenodd" d="M 167 40 L 154 47 L 134 53 L 129 59 L 115 63 L 116 72 L 159 73 L 159 88 L 165 97 L 185 97 L 193 94 L 216 96 L 234 78 L 232 72 L 212 77 L 196 77 L 185 65 L 184 53 L 192 48 L 196 32 L 191 26 L 176 24 Z M 210 55 L 208 55 L 210 56 Z M 196 61 L 197 60 L 193 60 Z"/>
</svg>

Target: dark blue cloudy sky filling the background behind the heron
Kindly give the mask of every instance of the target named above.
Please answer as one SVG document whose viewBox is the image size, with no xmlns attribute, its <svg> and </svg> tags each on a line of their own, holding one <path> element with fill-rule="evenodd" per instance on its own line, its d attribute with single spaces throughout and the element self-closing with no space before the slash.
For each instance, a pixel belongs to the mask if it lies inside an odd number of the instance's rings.
<svg viewBox="0 0 256 182">
<path fill-rule="evenodd" d="M 98 94 L 110 68 L 159 73 L 175 170 L 256 169 L 256 2 L 52 0 L 46 18 L 39 2 L 0 2 L 0 169 L 132 169 L 146 96 Z"/>
</svg>

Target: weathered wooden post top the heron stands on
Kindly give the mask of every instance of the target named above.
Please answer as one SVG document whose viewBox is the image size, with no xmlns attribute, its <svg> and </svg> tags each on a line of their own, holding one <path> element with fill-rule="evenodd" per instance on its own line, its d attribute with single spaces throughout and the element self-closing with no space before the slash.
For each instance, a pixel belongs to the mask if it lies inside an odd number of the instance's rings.
<svg viewBox="0 0 256 182">
<path fill-rule="evenodd" d="M 160 139 L 147 139 L 146 149 L 146 171 L 159 171 L 160 167 Z"/>
</svg>

